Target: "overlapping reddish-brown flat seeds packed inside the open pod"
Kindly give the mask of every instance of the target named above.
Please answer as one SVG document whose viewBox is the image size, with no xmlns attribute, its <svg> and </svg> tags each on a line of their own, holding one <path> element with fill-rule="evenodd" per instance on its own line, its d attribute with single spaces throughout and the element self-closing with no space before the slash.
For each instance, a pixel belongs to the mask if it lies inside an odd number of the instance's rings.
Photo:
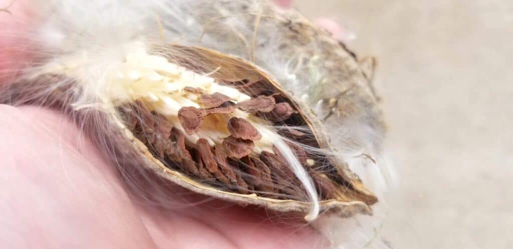
<svg viewBox="0 0 513 249">
<path fill-rule="evenodd" d="M 258 101 L 261 99 L 263 98 L 259 98 Z M 297 195 L 297 188 L 292 186 L 300 184 L 280 152 L 274 147 L 271 152 L 254 152 L 254 141 L 262 139 L 263 136 L 244 118 L 231 117 L 228 120 L 225 125 L 230 135 L 224 138 L 221 144 L 210 146 L 204 138 L 199 138 L 194 144 L 186 144 L 187 134 L 194 134 L 195 130 L 201 129 L 203 117 L 215 114 L 229 115 L 235 108 L 239 108 L 239 105 L 229 102 L 208 109 L 183 107 L 179 112 L 179 119 L 185 132 L 172 127 L 165 116 L 149 110 L 141 101 L 125 105 L 120 111 L 135 137 L 145 143 L 154 156 L 168 167 L 183 170 L 213 185 L 228 186 L 241 194 L 255 192 L 276 197 L 281 193 Z M 248 105 L 253 104 L 241 102 L 241 107 Z M 226 106 L 231 108 L 227 111 Z M 222 111 L 212 111 L 214 109 Z M 290 146 L 300 162 L 307 165 L 306 153 L 300 147 L 294 147 L 292 143 Z"/>
</svg>

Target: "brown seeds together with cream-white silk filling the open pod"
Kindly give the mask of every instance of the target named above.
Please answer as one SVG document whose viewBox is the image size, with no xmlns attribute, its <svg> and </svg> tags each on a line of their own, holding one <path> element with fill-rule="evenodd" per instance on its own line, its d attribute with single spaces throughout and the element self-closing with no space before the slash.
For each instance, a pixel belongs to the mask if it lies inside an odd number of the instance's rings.
<svg viewBox="0 0 513 249">
<path fill-rule="evenodd" d="M 221 85 L 162 59 L 147 54 L 128 58 L 119 76 L 125 92 L 137 92 L 119 111 L 134 136 L 157 159 L 202 182 L 241 194 L 305 196 L 301 182 L 274 146 L 280 135 L 268 128 L 282 126 L 278 129 L 281 136 L 291 140 L 308 137 L 294 129 L 293 122 L 287 126 L 298 111 L 286 97 L 269 91 L 265 82 Z M 141 60 L 156 70 L 132 70 L 141 67 Z M 322 196 L 335 198 L 336 186 L 314 170 L 316 161 L 301 146 L 291 142 L 288 146 Z"/>
</svg>

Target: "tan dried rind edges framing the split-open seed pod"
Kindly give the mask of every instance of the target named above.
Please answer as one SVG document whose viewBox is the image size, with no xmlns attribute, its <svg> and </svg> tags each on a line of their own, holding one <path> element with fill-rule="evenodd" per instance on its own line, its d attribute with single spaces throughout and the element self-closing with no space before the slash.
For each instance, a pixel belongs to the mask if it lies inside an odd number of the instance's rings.
<svg viewBox="0 0 513 249">
<path fill-rule="evenodd" d="M 180 53 L 173 53 L 173 51 L 180 51 Z M 214 79 L 224 79 L 226 78 L 227 74 L 231 74 L 232 76 L 236 77 L 239 75 L 233 75 L 233 72 L 240 72 L 242 74 L 240 75 L 241 77 L 243 76 L 250 80 L 257 81 L 264 80 L 265 82 L 272 84 L 274 91 L 278 91 L 281 95 L 289 99 L 289 103 L 293 106 L 293 108 L 299 110 L 299 114 L 301 115 L 302 119 L 307 122 L 308 127 L 310 127 L 319 148 L 326 151 L 331 149 L 328 136 L 323 130 L 321 121 L 315 114 L 313 114 L 308 105 L 302 101 L 297 100 L 294 96 L 288 94 L 281 88 L 280 85 L 278 85 L 276 81 L 274 81 L 269 76 L 267 72 L 255 65 L 252 65 L 249 63 L 249 61 L 205 48 L 185 47 L 171 44 L 155 45 L 152 52 L 166 57 L 169 61 L 180 63 L 181 65 L 188 65 L 188 58 L 200 60 L 202 61 L 203 68 L 196 68 L 196 70 L 209 72 L 216 69 L 216 71 L 211 74 L 211 77 Z M 177 54 L 180 57 L 177 57 Z M 223 191 L 208 184 L 194 180 L 179 171 L 169 169 L 160 160 L 156 159 L 152 155 L 152 153 L 148 150 L 143 142 L 137 140 L 133 136 L 132 132 L 127 127 L 125 127 L 122 120 L 119 120 L 116 115 L 112 115 L 112 118 L 114 119 L 115 123 L 117 123 L 125 130 L 124 136 L 131 141 L 131 146 L 144 159 L 143 164 L 145 164 L 147 168 L 152 169 L 160 176 L 169 179 L 170 181 L 181 186 L 184 186 L 193 192 L 214 196 L 223 200 L 237 203 L 261 205 L 277 212 L 305 214 L 310 209 L 311 203 L 308 202 L 273 199 L 257 196 L 255 194 L 239 194 Z M 349 197 L 347 197 L 351 200 L 347 201 L 333 199 L 321 201 L 321 212 L 324 212 L 325 214 L 337 214 L 343 217 L 349 217 L 357 213 L 371 214 L 369 205 L 377 201 L 376 196 L 365 189 L 360 179 L 348 169 L 347 163 L 343 162 L 340 158 L 333 156 L 327 156 L 327 158 L 331 165 L 333 165 L 333 168 L 337 170 L 337 177 L 340 177 L 343 180 L 344 185 L 346 186 L 345 188 L 350 189 L 350 191 L 344 192 L 351 194 Z"/>
</svg>

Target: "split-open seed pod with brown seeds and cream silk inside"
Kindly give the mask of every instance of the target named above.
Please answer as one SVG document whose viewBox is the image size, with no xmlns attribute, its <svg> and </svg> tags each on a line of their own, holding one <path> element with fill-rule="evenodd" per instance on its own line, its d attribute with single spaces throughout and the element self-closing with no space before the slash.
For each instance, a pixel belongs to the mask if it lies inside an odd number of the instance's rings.
<svg viewBox="0 0 513 249">
<path fill-rule="evenodd" d="M 320 212 L 371 213 L 377 198 L 330 154 L 318 118 L 262 69 L 204 48 L 152 52 L 129 57 L 119 80 L 153 90 L 111 99 L 121 114 L 111 118 L 145 167 L 197 193 L 303 214 L 312 203 L 300 178 L 311 178 Z M 134 71 L 136 63 L 149 66 Z"/>
</svg>

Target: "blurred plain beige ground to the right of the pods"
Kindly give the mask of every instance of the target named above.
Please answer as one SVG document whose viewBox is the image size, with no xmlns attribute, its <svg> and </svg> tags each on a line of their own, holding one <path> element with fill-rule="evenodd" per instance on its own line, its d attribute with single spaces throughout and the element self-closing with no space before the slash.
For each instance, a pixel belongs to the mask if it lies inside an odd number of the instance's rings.
<svg viewBox="0 0 513 249">
<path fill-rule="evenodd" d="M 378 59 L 396 249 L 513 248 L 513 1 L 297 0 Z"/>
</svg>

